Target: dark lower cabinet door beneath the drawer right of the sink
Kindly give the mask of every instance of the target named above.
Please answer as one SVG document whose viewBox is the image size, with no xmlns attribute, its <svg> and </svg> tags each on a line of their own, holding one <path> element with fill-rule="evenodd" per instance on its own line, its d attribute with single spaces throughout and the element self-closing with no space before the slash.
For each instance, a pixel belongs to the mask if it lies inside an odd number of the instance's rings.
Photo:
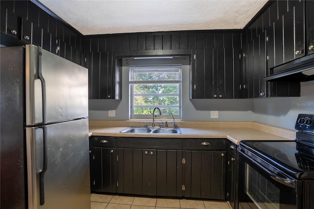
<svg viewBox="0 0 314 209">
<path fill-rule="evenodd" d="M 185 197 L 225 199 L 222 151 L 185 151 Z"/>
</svg>

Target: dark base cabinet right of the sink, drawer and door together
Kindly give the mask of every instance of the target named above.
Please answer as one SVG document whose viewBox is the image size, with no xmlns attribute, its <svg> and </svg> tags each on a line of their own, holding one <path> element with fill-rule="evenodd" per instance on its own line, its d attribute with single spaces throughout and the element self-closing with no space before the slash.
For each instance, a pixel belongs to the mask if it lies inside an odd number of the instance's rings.
<svg viewBox="0 0 314 209">
<path fill-rule="evenodd" d="M 184 197 L 225 199 L 225 140 L 185 139 Z"/>
</svg>

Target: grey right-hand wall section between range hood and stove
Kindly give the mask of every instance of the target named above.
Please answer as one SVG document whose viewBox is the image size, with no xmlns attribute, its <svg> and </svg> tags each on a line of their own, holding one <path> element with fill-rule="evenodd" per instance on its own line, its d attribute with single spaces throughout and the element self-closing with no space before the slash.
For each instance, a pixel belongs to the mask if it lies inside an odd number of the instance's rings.
<svg viewBox="0 0 314 209">
<path fill-rule="evenodd" d="M 301 82 L 300 97 L 254 99 L 254 121 L 294 129 L 298 114 L 314 114 L 314 81 Z"/>
</svg>

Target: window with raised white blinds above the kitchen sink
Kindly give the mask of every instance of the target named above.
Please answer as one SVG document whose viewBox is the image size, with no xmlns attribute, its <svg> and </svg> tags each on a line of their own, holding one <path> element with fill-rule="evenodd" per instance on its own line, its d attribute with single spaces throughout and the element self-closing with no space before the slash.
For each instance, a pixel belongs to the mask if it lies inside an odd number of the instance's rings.
<svg viewBox="0 0 314 209">
<path fill-rule="evenodd" d="M 130 66 L 131 119 L 151 119 L 155 107 L 169 119 L 181 119 L 182 65 Z"/>
</svg>

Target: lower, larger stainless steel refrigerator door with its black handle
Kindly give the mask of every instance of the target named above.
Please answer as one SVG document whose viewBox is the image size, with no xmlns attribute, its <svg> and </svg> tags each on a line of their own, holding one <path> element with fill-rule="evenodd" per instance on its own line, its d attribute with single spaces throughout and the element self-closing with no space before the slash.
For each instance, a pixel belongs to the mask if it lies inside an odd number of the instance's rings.
<svg viewBox="0 0 314 209">
<path fill-rule="evenodd" d="M 90 209 L 88 119 L 26 128 L 29 209 Z"/>
</svg>

